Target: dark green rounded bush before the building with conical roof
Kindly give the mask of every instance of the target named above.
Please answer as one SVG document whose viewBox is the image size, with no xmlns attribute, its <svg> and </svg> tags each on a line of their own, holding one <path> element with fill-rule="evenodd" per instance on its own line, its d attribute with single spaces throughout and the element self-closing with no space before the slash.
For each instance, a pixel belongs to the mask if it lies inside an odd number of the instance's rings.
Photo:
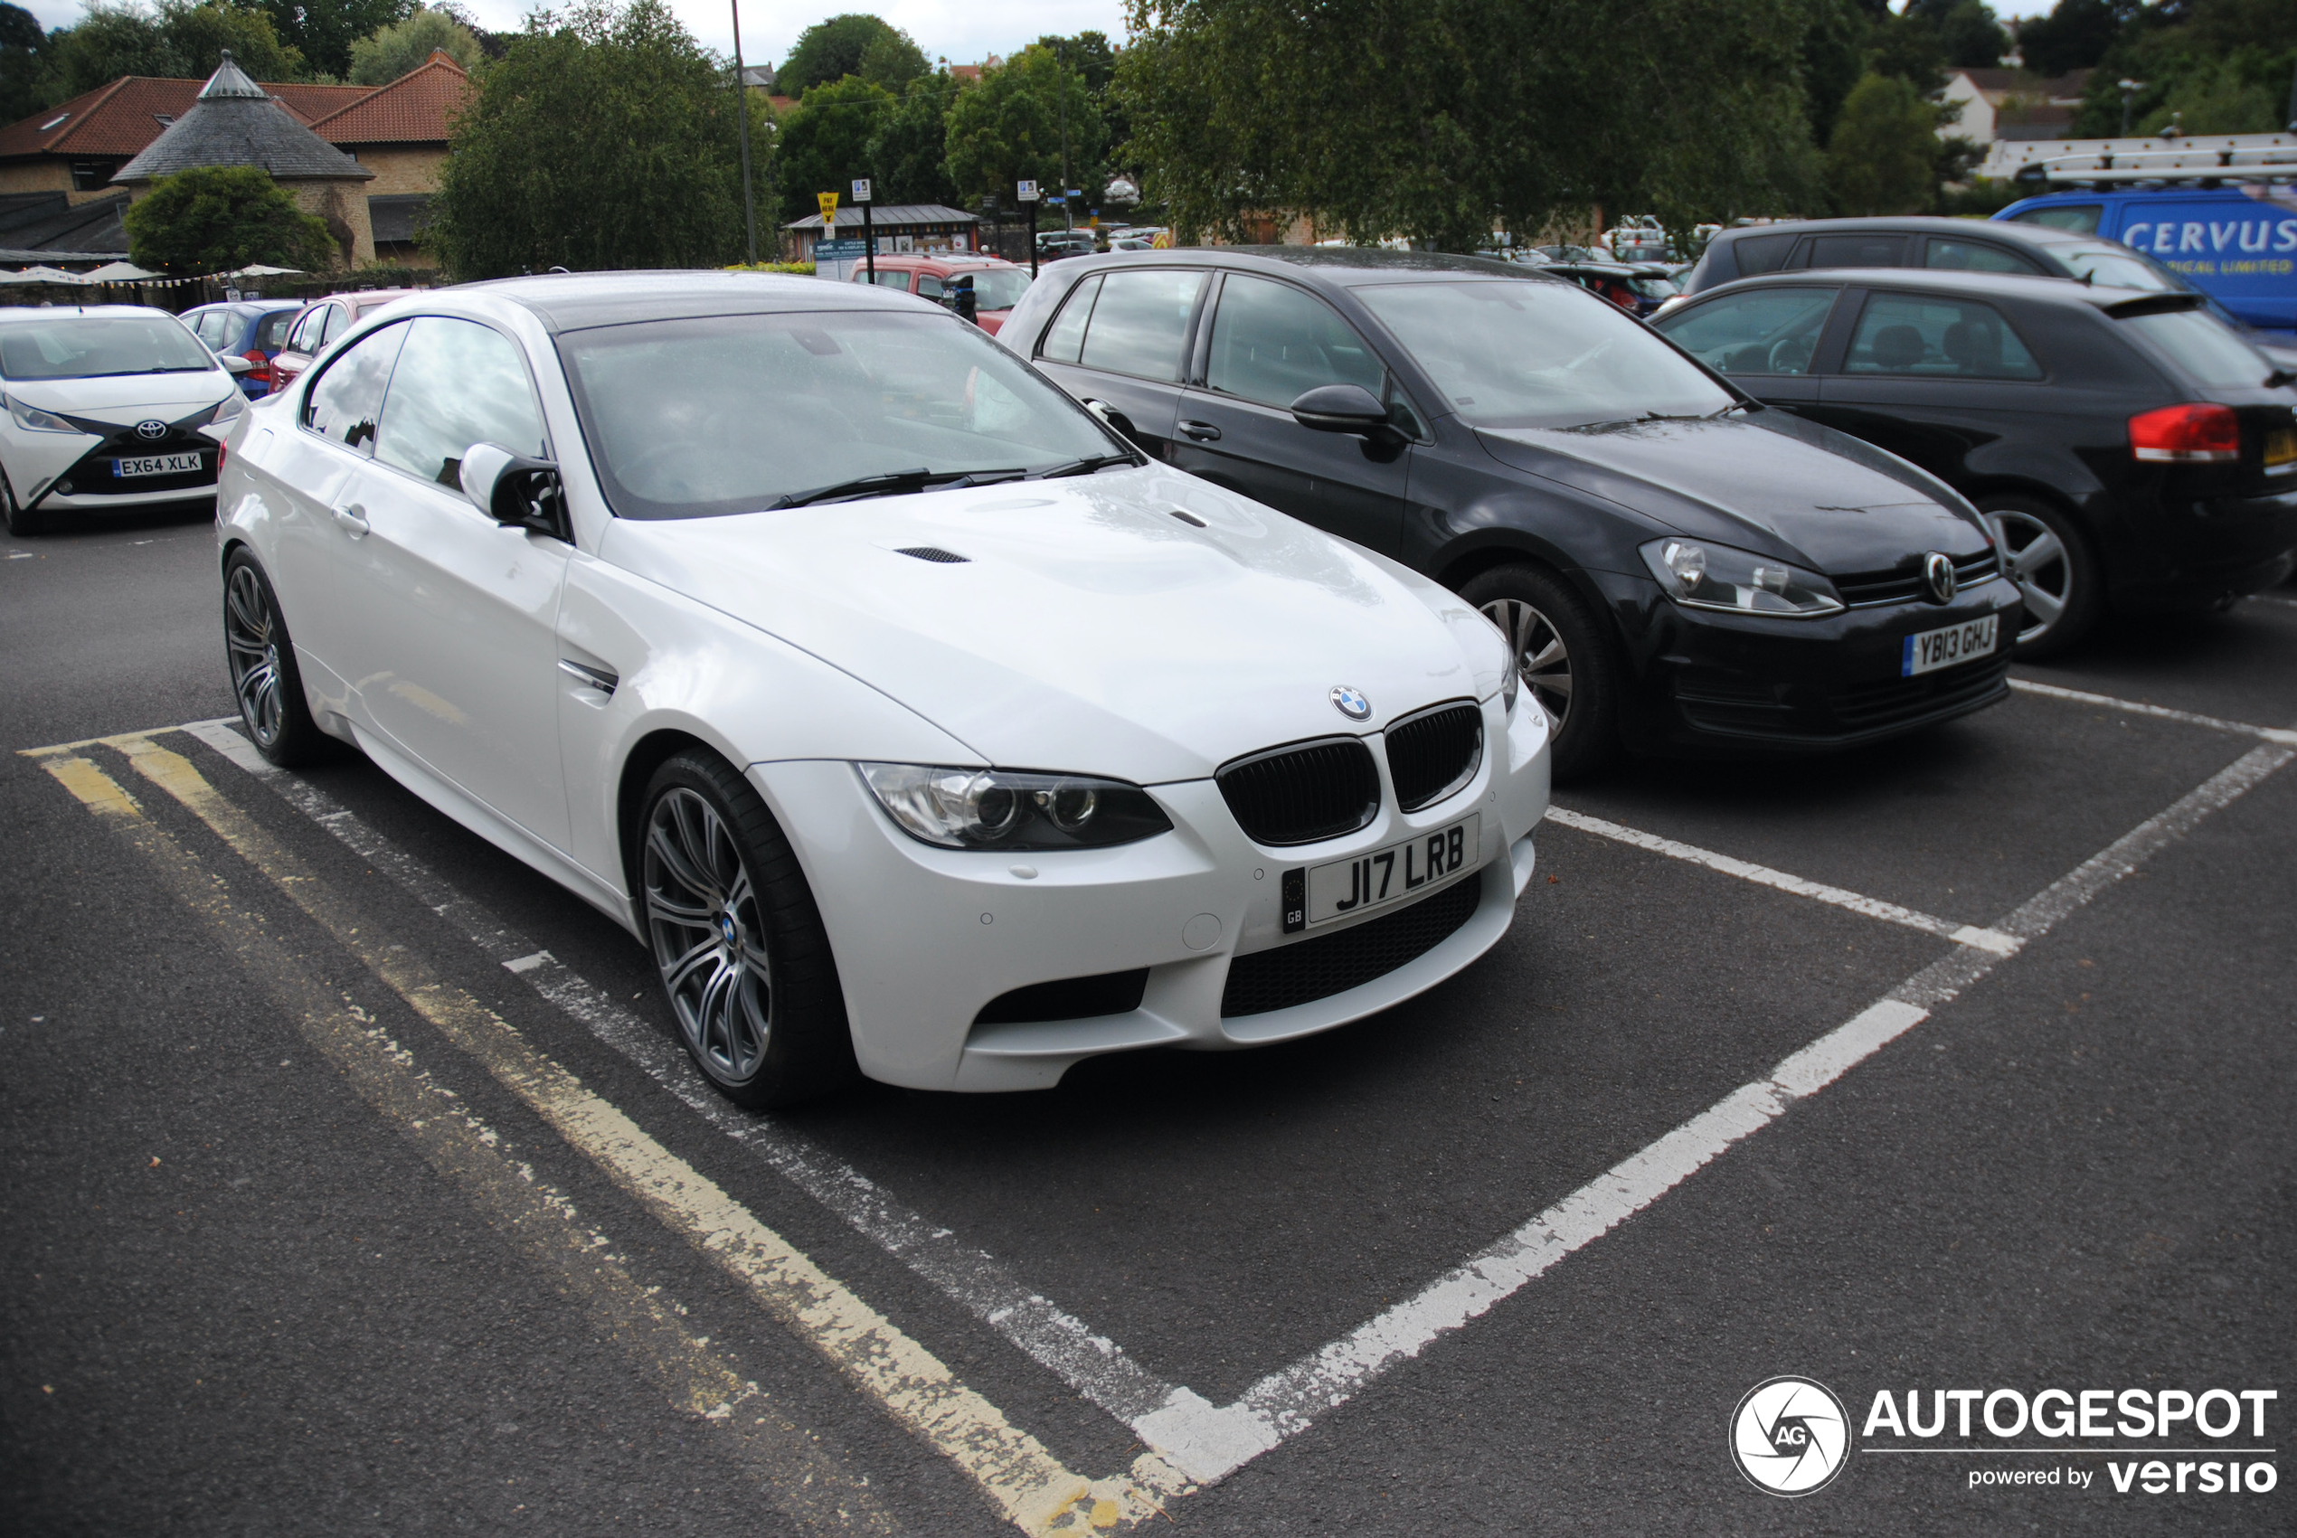
<svg viewBox="0 0 2297 1538">
<path fill-rule="evenodd" d="M 326 220 L 260 165 L 200 165 L 161 177 L 122 220 L 136 266 L 195 278 L 250 264 L 306 273 L 335 264 Z"/>
</svg>

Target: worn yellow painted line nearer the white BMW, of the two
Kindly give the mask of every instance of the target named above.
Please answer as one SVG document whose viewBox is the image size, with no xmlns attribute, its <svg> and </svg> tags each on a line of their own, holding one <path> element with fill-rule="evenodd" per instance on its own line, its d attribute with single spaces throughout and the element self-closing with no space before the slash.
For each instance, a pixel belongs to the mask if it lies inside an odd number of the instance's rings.
<svg viewBox="0 0 2297 1538">
<path fill-rule="evenodd" d="M 829 1359 L 866 1398 L 965 1471 L 1024 1533 L 1082 1533 L 1139 1522 L 1160 1508 L 1165 1494 L 1185 1485 L 1153 1453 L 1144 1453 L 1128 1476 L 1086 1481 L 1070 1474 L 1036 1437 L 1006 1421 L 1004 1412 L 937 1357 L 760 1224 L 717 1182 L 537 1051 L 494 1010 L 443 982 L 413 950 L 390 948 L 379 939 L 381 930 L 354 902 L 223 799 L 191 760 L 147 739 L 122 737 L 110 746 L 200 817 L 659 1224 L 744 1283 L 753 1299 Z"/>
</svg>

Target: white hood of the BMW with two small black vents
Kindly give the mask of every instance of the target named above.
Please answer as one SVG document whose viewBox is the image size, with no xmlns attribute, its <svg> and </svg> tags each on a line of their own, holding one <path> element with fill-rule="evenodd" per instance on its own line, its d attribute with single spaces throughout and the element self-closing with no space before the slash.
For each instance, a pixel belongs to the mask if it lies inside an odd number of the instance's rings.
<svg viewBox="0 0 2297 1538">
<path fill-rule="evenodd" d="M 1155 466 L 616 519 L 600 553 L 852 673 L 1006 769 L 1204 778 L 1254 748 L 1484 698 L 1507 666 L 1498 631 L 1426 578 Z M 1367 721 L 1332 705 L 1341 684 L 1371 700 Z"/>
</svg>

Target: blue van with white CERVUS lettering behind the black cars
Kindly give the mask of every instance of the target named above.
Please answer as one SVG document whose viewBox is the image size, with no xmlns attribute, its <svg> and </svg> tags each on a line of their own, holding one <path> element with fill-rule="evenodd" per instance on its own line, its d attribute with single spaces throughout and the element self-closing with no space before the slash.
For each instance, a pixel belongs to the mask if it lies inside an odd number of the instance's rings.
<svg viewBox="0 0 2297 1538">
<path fill-rule="evenodd" d="M 2233 314 L 2297 333 L 2297 186 L 2129 186 L 2049 193 L 1994 218 L 2099 234 L 2143 250 Z"/>
</svg>

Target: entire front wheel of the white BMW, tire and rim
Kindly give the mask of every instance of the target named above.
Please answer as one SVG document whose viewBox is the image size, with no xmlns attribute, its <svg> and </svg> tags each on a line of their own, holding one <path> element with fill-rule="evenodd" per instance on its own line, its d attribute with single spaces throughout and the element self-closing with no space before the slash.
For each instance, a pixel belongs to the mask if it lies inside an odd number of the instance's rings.
<svg viewBox="0 0 2297 1538">
<path fill-rule="evenodd" d="M 645 939 L 703 1077 L 758 1111 L 859 1077 L 822 914 L 749 780 L 689 748 L 655 771 L 641 806 L 632 865 Z"/>
</svg>

